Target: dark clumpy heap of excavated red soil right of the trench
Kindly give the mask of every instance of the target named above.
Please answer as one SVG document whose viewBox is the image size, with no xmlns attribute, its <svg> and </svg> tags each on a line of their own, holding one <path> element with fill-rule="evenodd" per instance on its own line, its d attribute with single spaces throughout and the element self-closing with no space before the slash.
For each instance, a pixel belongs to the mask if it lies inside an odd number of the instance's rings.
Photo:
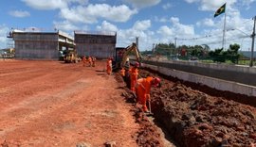
<svg viewBox="0 0 256 147">
<path fill-rule="evenodd" d="M 155 122 L 160 123 L 177 143 L 177 146 L 254 146 L 256 145 L 255 97 L 181 81 L 149 69 L 139 74 L 162 78 L 161 88 L 151 91 Z M 133 96 L 124 95 L 126 98 Z M 135 110 L 138 121 L 143 121 Z M 141 119 L 142 118 L 142 119 Z M 137 134 L 139 145 L 164 146 L 157 139 L 157 131 Z M 140 136 L 139 136 L 140 135 Z M 154 139 L 146 139 L 150 137 Z M 157 140 L 151 144 L 152 140 Z M 144 143 L 144 144 L 143 144 Z"/>
</svg>

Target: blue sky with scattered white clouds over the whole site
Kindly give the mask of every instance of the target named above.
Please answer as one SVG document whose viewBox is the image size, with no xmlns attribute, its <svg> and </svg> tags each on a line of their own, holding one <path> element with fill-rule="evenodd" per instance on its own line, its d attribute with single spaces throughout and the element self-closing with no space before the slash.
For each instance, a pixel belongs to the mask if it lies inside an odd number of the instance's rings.
<svg viewBox="0 0 256 147">
<path fill-rule="evenodd" d="M 213 17 L 226 3 L 225 13 Z M 140 51 L 157 43 L 204 45 L 211 50 L 237 43 L 251 48 L 256 0 L 1 0 L 0 48 L 13 29 L 116 32 L 117 47 L 136 41 Z"/>
</svg>

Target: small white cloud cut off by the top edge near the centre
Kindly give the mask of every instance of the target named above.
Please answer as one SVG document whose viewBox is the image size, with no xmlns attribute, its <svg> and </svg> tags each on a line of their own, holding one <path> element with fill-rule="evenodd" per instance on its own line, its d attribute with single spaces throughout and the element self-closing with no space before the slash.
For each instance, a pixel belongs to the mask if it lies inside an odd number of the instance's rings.
<svg viewBox="0 0 256 147">
<path fill-rule="evenodd" d="M 125 0 L 132 4 L 135 8 L 147 8 L 152 7 L 160 3 L 161 0 Z"/>
</svg>

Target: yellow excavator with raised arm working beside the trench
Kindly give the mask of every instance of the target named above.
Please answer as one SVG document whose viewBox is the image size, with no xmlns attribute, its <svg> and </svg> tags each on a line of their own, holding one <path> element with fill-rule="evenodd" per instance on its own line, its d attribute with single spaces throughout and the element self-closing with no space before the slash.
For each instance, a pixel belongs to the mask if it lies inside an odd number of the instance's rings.
<svg viewBox="0 0 256 147">
<path fill-rule="evenodd" d="M 129 56 L 134 55 L 136 57 L 136 61 L 139 64 L 141 64 L 141 61 L 142 61 L 142 57 L 138 52 L 137 44 L 135 42 L 133 42 L 131 45 L 127 46 L 126 48 L 119 50 L 119 53 L 117 55 L 119 55 L 119 58 L 116 56 L 116 64 L 114 64 L 114 66 L 116 67 L 113 68 L 117 70 L 121 68 L 127 68 L 127 66 L 129 67 L 131 62 Z"/>
</svg>

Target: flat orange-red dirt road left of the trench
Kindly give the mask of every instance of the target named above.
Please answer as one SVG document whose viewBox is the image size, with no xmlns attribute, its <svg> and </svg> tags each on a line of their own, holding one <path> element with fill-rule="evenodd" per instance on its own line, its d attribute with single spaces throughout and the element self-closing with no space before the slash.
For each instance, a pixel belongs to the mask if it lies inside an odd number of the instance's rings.
<svg viewBox="0 0 256 147">
<path fill-rule="evenodd" d="M 104 64 L 0 61 L 0 143 L 137 146 L 139 125 Z"/>
</svg>

